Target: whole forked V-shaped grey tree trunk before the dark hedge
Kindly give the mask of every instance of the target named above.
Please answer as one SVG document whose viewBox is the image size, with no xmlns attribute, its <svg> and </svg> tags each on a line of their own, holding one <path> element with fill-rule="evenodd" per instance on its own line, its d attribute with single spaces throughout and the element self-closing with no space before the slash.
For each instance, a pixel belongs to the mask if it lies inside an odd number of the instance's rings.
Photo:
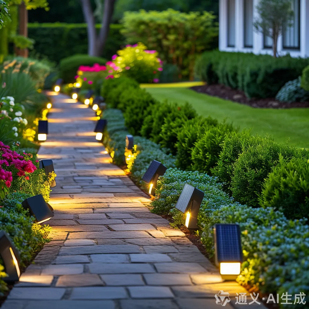
<svg viewBox="0 0 309 309">
<path fill-rule="evenodd" d="M 109 25 L 112 20 L 116 0 L 104 1 L 103 19 L 99 35 L 97 35 L 95 30 L 95 18 L 90 0 L 81 0 L 81 2 L 84 18 L 87 23 L 88 54 L 90 56 L 101 56 L 108 37 Z"/>
</svg>

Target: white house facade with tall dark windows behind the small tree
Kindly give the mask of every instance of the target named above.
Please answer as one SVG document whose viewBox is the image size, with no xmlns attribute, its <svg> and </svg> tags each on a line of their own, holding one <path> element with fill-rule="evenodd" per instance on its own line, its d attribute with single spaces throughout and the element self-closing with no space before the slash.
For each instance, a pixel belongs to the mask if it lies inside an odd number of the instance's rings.
<svg viewBox="0 0 309 309">
<path fill-rule="evenodd" d="M 219 50 L 273 54 L 272 40 L 255 31 L 260 0 L 219 0 Z M 278 54 L 309 57 L 309 0 L 292 0 L 293 26 L 278 38 Z"/>
</svg>

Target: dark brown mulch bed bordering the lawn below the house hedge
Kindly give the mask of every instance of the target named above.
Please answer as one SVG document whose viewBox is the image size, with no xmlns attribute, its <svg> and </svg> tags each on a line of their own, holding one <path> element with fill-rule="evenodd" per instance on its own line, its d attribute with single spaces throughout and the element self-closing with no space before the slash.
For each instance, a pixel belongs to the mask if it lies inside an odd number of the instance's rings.
<svg viewBox="0 0 309 309">
<path fill-rule="evenodd" d="M 234 101 L 240 104 L 249 105 L 255 108 L 308 108 L 309 102 L 280 102 L 276 101 L 274 98 L 268 99 L 248 99 L 243 91 L 232 89 L 224 85 L 214 84 L 214 85 L 204 85 L 195 86 L 190 89 L 205 93 L 207 95 L 216 96 L 222 99 Z"/>
</svg>

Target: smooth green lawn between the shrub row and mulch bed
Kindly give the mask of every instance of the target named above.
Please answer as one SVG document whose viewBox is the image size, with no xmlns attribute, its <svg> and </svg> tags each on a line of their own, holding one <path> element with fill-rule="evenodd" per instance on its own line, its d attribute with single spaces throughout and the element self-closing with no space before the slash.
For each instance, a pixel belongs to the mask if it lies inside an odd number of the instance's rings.
<svg viewBox="0 0 309 309">
<path fill-rule="evenodd" d="M 277 142 L 309 148 L 309 108 L 261 109 L 197 93 L 188 88 L 146 88 L 156 99 L 191 103 L 203 116 L 227 119 L 235 126 L 252 128 L 252 134 L 273 136 Z"/>
</svg>

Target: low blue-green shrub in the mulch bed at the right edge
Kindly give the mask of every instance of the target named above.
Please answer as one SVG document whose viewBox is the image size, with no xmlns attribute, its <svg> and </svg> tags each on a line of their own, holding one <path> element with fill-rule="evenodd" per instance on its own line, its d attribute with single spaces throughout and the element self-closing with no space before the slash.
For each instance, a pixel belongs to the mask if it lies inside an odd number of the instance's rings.
<svg viewBox="0 0 309 309">
<path fill-rule="evenodd" d="M 309 91 L 301 87 L 301 77 L 287 82 L 277 93 L 276 100 L 281 102 L 303 102 L 309 100 Z"/>
</svg>

